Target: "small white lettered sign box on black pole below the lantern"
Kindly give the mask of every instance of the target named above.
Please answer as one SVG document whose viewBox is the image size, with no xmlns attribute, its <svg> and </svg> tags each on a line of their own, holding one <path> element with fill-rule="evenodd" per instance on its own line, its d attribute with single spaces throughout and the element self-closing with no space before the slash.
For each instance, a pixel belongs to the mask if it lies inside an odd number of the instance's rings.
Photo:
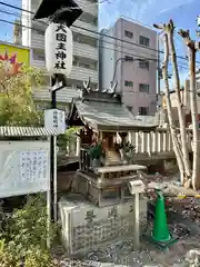
<svg viewBox="0 0 200 267">
<path fill-rule="evenodd" d="M 66 112 L 59 109 L 44 110 L 46 129 L 54 129 L 59 135 L 66 132 Z"/>
</svg>

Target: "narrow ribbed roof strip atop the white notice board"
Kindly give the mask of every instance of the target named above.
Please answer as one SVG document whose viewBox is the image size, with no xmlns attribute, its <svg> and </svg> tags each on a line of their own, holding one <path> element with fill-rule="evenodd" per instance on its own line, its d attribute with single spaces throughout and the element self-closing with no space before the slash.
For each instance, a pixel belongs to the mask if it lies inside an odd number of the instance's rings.
<svg viewBox="0 0 200 267">
<path fill-rule="evenodd" d="M 57 130 L 42 127 L 0 126 L 0 137 L 48 137 L 58 136 Z"/>
</svg>

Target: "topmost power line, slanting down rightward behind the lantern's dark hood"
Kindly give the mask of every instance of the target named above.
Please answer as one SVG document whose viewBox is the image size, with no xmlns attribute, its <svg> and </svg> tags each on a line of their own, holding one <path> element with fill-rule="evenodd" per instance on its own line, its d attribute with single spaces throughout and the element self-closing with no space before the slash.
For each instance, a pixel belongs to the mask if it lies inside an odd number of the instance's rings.
<svg viewBox="0 0 200 267">
<path fill-rule="evenodd" d="M 20 11 L 23 11 L 23 12 L 27 12 L 27 13 L 34 14 L 34 12 L 32 12 L 32 11 L 29 11 L 29 10 L 22 9 L 22 8 L 19 8 L 19 7 L 13 6 L 13 4 L 4 3 L 4 2 L 2 2 L 2 1 L 0 1 L 0 4 L 6 6 L 6 7 L 9 7 L 9 8 L 13 8 L 13 9 L 17 9 L 17 10 L 20 10 Z M 39 23 L 42 23 L 42 24 L 47 24 L 46 22 L 42 22 L 42 21 L 38 21 L 38 22 L 39 22 Z M 147 50 L 151 50 L 151 51 L 154 51 L 154 52 L 164 53 L 162 50 L 158 51 L 157 49 L 153 49 L 153 48 L 142 47 L 141 44 L 138 44 L 138 43 L 136 43 L 136 42 L 127 41 L 127 40 L 123 40 L 123 39 L 120 39 L 120 38 L 117 38 L 117 37 L 112 37 L 112 36 L 109 36 L 109 34 L 106 34 L 106 33 L 102 33 L 102 32 L 89 30 L 89 29 L 86 29 L 86 28 L 83 28 L 83 27 L 79 27 L 79 26 L 72 26 L 72 27 L 73 27 L 73 28 L 77 28 L 77 29 L 86 30 L 86 31 L 91 32 L 91 33 L 99 34 L 100 37 L 107 37 L 107 38 L 113 39 L 113 40 L 116 40 L 116 41 L 121 41 L 121 42 L 124 42 L 124 43 L 128 43 L 128 44 L 132 44 L 132 46 L 136 46 L 136 47 L 139 47 L 139 48 L 142 48 L 142 49 L 147 49 Z M 187 58 L 184 58 L 184 57 L 182 57 L 182 56 L 177 56 L 177 58 L 182 59 L 182 60 L 187 60 Z M 188 60 L 187 60 L 187 61 L 188 61 Z M 196 62 L 197 62 L 197 63 L 200 63 L 200 61 L 196 61 Z"/>
</svg>

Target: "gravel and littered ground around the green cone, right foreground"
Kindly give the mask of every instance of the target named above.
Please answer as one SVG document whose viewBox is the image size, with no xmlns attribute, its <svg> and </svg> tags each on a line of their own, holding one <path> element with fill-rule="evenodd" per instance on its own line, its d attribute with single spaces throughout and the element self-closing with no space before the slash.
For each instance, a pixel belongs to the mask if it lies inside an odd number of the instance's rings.
<svg viewBox="0 0 200 267">
<path fill-rule="evenodd" d="M 152 177 L 150 180 L 152 181 Z M 156 182 L 162 184 L 162 180 L 163 178 L 160 176 L 154 177 Z M 177 178 L 169 178 L 168 180 L 178 185 Z M 166 250 L 157 248 L 147 238 L 141 237 L 140 250 L 134 250 L 131 239 L 101 247 L 87 255 L 79 255 L 77 259 L 64 257 L 61 249 L 60 254 L 57 253 L 56 266 L 200 267 L 200 200 L 193 198 L 171 199 L 168 221 L 170 231 L 179 236 L 179 240 Z M 149 231 L 151 227 L 151 224 L 149 224 Z"/>
</svg>

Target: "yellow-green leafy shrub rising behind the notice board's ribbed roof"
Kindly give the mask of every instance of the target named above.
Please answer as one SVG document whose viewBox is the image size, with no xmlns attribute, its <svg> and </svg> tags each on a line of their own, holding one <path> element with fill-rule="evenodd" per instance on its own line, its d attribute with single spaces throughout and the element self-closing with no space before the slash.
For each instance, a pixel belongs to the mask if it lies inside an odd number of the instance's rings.
<svg viewBox="0 0 200 267">
<path fill-rule="evenodd" d="M 0 125 L 40 126 L 43 117 L 37 110 L 32 95 L 32 80 L 38 88 L 42 72 L 34 68 L 22 68 L 16 76 L 0 79 Z"/>
</svg>

